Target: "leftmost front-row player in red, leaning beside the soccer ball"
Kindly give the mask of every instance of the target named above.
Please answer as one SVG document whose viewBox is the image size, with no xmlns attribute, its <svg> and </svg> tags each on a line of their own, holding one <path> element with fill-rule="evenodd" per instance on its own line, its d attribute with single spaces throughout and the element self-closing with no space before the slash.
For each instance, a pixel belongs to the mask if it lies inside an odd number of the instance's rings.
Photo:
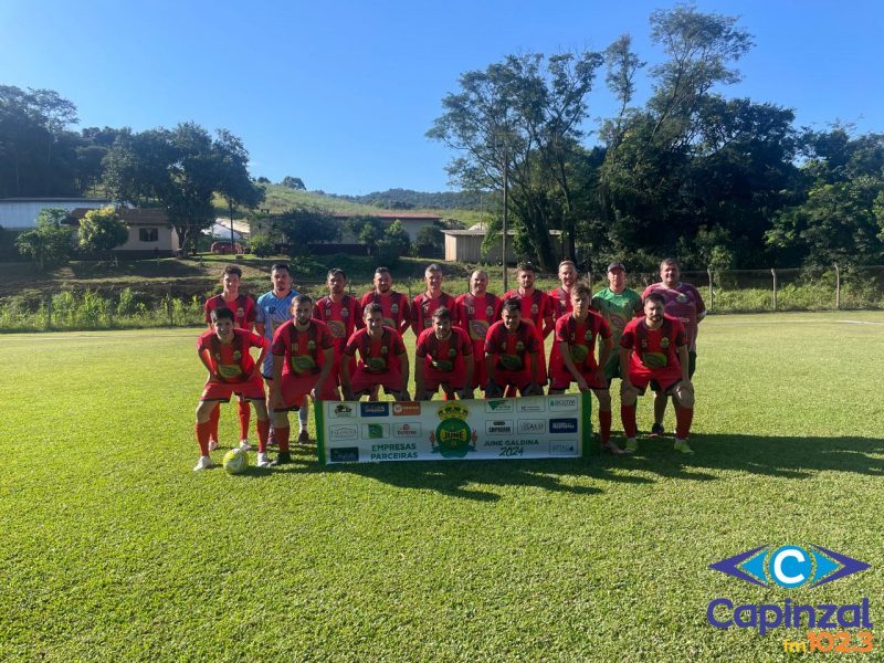
<svg viewBox="0 0 884 663">
<path fill-rule="evenodd" d="M 270 421 L 264 404 L 264 385 L 261 382 L 261 361 L 270 347 L 266 338 L 248 329 L 234 328 L 233 312 L 217 308 L 211 312 L 213 329 L 203 333 L 197 340 L 197 354 L 209 371 L 209 379 L 197 407 L 196 434 L 200 445 L 200 460 L 194 471 L 212 466 L 209 457 L 210 415 L 218 403 L 230 401 L 234 393 L 252 401 L 257 413 L 259 444 L 266 444 Z M 252 359 L 251 348 L 261 348 L 257 362 Z"/>
</svg>

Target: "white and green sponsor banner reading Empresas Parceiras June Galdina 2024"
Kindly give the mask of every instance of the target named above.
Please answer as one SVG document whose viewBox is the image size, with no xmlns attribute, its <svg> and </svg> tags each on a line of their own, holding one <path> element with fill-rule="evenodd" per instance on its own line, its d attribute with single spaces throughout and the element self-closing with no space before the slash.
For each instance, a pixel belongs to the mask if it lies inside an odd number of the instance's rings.
<svg viewBox="0 0 884 663">
<path fill-rule="evenodd" d="M 591 394 L 423 402 L 317 402 L 319 462 L 577 457 Z"/>
</svg>

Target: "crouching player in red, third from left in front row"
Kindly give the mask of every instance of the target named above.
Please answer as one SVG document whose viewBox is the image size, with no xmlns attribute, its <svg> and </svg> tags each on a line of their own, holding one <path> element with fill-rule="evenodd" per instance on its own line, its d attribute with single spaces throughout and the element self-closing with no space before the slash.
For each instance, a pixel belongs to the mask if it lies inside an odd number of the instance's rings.
<svg viewBox="0 0 884 663">
<path fill-rule="evenodd" d="M 369 304 L 365 311 L 365 327 L 350 336 L 340 362 L 340 380 L 345 400 L 358 400 L 380 385 L 396 400 L 409 400 L 408 352 L 399 332 L 383 324 L 380 304 Z M 350 373 L 350 361 L 359 352 L 356 371 Z"/>
</svg>

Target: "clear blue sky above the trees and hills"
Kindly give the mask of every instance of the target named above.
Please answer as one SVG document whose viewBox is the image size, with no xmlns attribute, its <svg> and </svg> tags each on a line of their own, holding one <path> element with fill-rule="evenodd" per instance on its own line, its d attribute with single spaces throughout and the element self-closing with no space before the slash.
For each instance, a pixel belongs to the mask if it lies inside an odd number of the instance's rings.
<svg viewBox="0 0 884 663">
<path fill-rule="evenodd" d="M 654 64 L 662 53 L 648 18 L 672 4 L 0 0 L 0 84 L 55 90 L 76 104 L 81 127 L 228 128 L 252 173 L 273 181 L 291 175 L 335 193 L 445 190 L 454 155 L 424 134 L 461 73 L 509 53 L 602 50 L 623 33 Z M 755 35 L 727 96 L 794 108 L 799 125 L 884 130 L 881 0 L 697 9 L 740 15 Z M 589 98 L 593 119 L 613 112 L 603 73 Z"/>
</svg>

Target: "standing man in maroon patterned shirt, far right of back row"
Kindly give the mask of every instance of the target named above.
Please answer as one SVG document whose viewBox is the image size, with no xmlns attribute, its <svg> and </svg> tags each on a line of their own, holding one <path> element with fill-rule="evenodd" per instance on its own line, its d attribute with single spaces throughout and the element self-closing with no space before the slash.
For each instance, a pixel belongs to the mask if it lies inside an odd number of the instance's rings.
<svg viewBox="0 0 884 663">
<path fill-rule="evenodd" d="M 699 291 L 690 283 L 682 283 L 678 262 L 666 257 L 660 263 L 660 283 L 652 283 L 642 293 L 642 299 L 649 293 L 660 293 L 666 303 L 665 313 L 678 319 L 684 325 L 687 337 L 687 375 L 693 378 L 697 367 L 697 332 L 699 323 L 706 317 L 706 305 Z M 665 393 L 654 392 L 654 424 L 651 427 L 651 436 L 662 435 L 663 418 L 666 414 Z M 673 401 L 674 402 L 674 401 Z"/>
</svg>

